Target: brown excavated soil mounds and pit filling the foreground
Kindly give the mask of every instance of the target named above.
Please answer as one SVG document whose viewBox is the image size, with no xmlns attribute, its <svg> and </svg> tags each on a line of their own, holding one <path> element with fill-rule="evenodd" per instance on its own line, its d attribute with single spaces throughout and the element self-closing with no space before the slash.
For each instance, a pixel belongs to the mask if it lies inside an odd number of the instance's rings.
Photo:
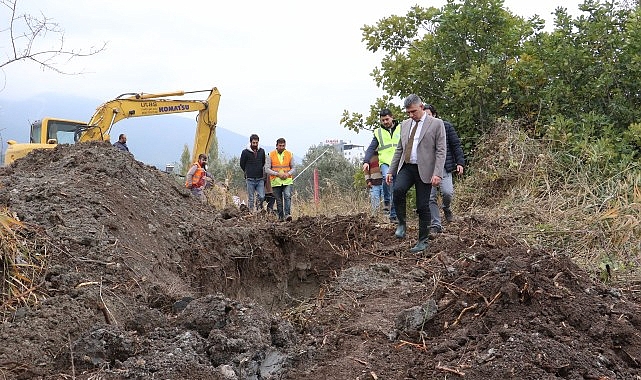
<svg viewBox="0 0 641 380">
<path fill-rule="evenodd" d="M 106 143 L 1 169 L 0 204 L 41 265 L 2 305 L 2 379 L 641 379 L 635 293 L 478 217 L 419 257 L 365 214 L 203 205 Z"/>
</svg>

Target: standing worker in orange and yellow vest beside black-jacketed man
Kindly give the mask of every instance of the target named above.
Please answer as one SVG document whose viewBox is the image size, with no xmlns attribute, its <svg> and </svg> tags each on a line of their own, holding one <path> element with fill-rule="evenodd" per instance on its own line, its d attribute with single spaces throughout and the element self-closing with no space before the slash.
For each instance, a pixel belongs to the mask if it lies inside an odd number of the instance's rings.
<svg viewBox="0 0 641 380">
<path fill-rule="evenodd" d="M 265 173 L 276 198 L 278 220 L 292 220 L 292 185 L 294 184 L 294 155 L 285 149 L 285 139 L 276 140 L 276 149 L 265 160 Z"/>
</svg>

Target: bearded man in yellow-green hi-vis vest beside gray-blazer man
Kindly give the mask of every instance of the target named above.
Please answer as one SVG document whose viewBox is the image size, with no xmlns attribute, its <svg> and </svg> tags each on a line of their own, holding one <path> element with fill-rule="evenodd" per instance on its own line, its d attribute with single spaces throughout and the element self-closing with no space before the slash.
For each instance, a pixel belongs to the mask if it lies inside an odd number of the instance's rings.
<svg viewBox="0 0 641 380">
<path fill-rule="evenodd" d="M 378 161 L 381 167 L 381 174 L 383 178 L 387 176 L 389 171 L 389 166 L 392 162 L 392 157 L 394 156 L 394 150 L 396 145 L 398 145 L 398 140 L 401 136 L 401 127 L 398 125 L 398 122 L 394 120 L 392 111 L 387 108 L 384 108 L 379 112 L 381 126 L 374 130 L 374 138 L 372 142 L 367 147 L 365 151 L 365 157 L 363 157 L 363 171 L 369 171 L 369 162 L 374 155 L 374 152 L 378 152 Z M 384 207 L 389 210 L 390 221 L 396 222 L 396 208 L 394 207 L 393 200 L 394 192 L 394 181 L 387 183 L 383 181 L 383 202 Z"/>
</svg>

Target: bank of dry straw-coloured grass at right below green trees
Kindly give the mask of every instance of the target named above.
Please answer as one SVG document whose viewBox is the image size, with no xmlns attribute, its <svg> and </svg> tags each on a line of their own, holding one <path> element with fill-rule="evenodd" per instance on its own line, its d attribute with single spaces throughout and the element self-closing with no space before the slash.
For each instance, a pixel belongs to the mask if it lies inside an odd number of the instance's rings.
<svg viewBox="0 0 641 380">
<path fill-rule="evenodd" d="M 572 257 L 601 277 L 641 280 L 641 174 L 611 178 L 500 125 L 456 185 L 455 207 L 492 218 L 532 246 Z M 570 162 L 568 164 L 568 162 Z M 607 276 L 610 279 L 610 275 Z"/>
</svg>

